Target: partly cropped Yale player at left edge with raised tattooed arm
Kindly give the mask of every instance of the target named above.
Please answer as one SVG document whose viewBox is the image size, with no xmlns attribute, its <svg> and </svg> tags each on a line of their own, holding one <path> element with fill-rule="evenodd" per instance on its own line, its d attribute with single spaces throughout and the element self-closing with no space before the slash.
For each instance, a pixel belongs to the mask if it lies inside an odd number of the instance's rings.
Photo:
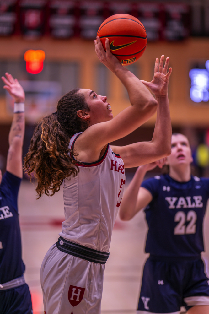
<svg viewBox="0 0 209 314">
<path fill-rule="evenodd" d="M 23 177 L 22 147 L 24 139 L 25 94 L 17 79 L 5 73 L 2 80 L 13 97 L 14 115 L 9 132 L 9 150 L 5 174 L 0 173 L 0 313 L 31 314 L 28 285 L 24 281 L 25 266 L 21 257 L 17 198 Z M 0 171 L 1 172 L 1 171 Z"/>
</svg>

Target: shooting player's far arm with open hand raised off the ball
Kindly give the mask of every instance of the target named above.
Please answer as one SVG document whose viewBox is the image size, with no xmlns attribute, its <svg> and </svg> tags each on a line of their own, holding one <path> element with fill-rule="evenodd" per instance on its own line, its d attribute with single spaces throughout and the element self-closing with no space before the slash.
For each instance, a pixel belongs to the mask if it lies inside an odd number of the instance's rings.
<svg viewBox="0 0 209 314">
<path fill-rule="evenodd" d="M 154 93 L 158 101 L 157 119 L 153 138 L 150 142 L 138 142 L 127 146 L 113 146 L 115 153 L 120 154 L 126 168 L 151 163 L 171 153 L 171 121 L 168 100 L 168 83 L 171 68 L 168 70 L 169 58 L 163 68 L 163 58 L 155 62 L 155 73 L 151 82 L 142 81 Z"/>
</svg>

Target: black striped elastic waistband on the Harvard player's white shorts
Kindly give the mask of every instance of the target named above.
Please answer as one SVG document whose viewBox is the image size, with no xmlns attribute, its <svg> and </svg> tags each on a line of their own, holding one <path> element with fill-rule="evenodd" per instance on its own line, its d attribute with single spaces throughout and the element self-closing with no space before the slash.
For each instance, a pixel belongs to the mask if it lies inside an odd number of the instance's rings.
<svg viewBox="0 0 209 314">
<path fill-rule="evenodd" d="M 89 262 L 105 264 L 108 260 L 110 253 L 100 252 L 89 247 L 67 241 L 62 236 L 56 242 L 56 247 L 65 253 L 83 258 Z"/>
</svg>

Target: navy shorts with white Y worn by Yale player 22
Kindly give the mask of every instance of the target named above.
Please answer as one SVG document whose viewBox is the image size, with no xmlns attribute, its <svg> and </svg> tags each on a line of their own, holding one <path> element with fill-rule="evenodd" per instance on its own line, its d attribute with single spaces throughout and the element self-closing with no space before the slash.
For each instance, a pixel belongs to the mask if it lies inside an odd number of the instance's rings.
<svg viewBox="0 0 209 314">
<path fill-rule="evenodd" d="M 179 313 L 209 306 L 208 278 L 200 259 L 165 261 L 149 257 L 144 265 L 138 313 Z"/>
</svg>

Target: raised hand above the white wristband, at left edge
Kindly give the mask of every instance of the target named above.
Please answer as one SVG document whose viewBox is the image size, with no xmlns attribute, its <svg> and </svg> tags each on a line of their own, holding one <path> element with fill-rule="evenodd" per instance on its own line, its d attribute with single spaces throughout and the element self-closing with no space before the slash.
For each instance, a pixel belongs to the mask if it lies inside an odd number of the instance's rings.
<svg viewBox="0 0 209 314">
<path fill-rule="evenodd" d="M 24 102 L 25 93 L 22 86 L 19 84 L 18 80 L 13 78 L 13 76 L 9 73 L 5 73 L 5 76 L 2 76 L 2 80 L 4 82 L 4 89 L 8 91 L 8 93 L 13 97 L 15 102 Z"/>
</svg>

